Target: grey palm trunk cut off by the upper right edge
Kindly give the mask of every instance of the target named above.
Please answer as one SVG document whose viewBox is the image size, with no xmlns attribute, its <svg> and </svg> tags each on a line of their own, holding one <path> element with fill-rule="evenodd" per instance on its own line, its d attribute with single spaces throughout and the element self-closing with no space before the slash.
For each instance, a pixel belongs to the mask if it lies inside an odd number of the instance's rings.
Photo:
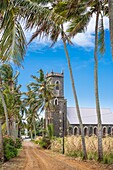
<svg viewBox="0 0 113 170">
<path fill-rule="evenodd" d="M 110 39 L 113 58 L 113 0 L 108 0 L 109 4 L 109 26 L 110 26 Z"/>
</svg>

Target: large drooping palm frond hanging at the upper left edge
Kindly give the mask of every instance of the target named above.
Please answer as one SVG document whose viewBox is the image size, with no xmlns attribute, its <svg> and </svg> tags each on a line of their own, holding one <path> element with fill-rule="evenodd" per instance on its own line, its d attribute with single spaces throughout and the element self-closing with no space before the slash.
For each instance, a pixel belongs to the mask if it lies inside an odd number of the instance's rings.
<svg viewBox="0 0 113 170">
<path fill-rule="evenodd" d="M 20 66 L 26 51 L 26 40 L 23 29 L 12 9 L 5 12 L 1 29 L 3 31 L 0 40 L 1 61 L 12 60 Z"/>
</svg>

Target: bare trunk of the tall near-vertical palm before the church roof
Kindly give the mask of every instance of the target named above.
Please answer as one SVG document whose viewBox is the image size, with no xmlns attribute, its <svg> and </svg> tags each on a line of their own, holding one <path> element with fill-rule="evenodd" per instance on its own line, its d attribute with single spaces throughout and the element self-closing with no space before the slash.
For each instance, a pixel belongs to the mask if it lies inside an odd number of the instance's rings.
<svg viewBox="0 0 113 170">
<path fill-rule="evenodd" d="M 95 100 L 96 100 L 96 112 L 98 120 L 98 160 L 103 159 L 103 148 L 102 148 L 102 123 L 101 123 L 101 112 L 99 103 L 99 91 L 98 91 L 98 22 L 99 22 L 99 11 L 96 15 L 96 26 L 95 26 L 95 51 L 94 51 L 94 88 L 95 88 Z"/>
</svg>

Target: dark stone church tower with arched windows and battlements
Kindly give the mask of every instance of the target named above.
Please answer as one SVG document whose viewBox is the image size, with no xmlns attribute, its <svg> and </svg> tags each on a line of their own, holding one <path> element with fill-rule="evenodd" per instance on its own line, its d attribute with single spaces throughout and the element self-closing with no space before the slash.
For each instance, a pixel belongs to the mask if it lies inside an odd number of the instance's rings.
<svg viewBox="0 0 113 170">
<path fill-rule="evenodd" d="M 54 111 L 45 113 L 46 128 L 49 124 L 53 124 L 54 136 L 67 135 L 67 101 L 64 99 L 64 74 L 63 72 L 46 75 L 50 78 L 50 83 L 54 84 L 54 98 L 52 104 Z M 64 131 L 63 131 L 64 129 Z"/>
</svg>

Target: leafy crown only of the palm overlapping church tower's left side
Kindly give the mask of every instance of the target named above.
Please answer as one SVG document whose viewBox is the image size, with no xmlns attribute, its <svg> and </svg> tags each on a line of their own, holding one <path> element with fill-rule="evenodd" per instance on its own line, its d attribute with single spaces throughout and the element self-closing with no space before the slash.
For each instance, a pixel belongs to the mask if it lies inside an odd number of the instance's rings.
<svg viewBox="0 0 113 170">
<path fill-rule="evenodd" d="M 51 79 L 46 79 L 42 69 L 39 70 L 39 77 L 33 76 L 34 82 L 30 83 L 29 86 L 32 88 L 33 92 L 36 94 L 36 104 L 35 108 L 38 108 L 40 112 L 46 110 L 51 110 L 53 108 L 51 100 L 54 97 L 53 88 L 54 85 L 50 84 Z"/>
</svg>

